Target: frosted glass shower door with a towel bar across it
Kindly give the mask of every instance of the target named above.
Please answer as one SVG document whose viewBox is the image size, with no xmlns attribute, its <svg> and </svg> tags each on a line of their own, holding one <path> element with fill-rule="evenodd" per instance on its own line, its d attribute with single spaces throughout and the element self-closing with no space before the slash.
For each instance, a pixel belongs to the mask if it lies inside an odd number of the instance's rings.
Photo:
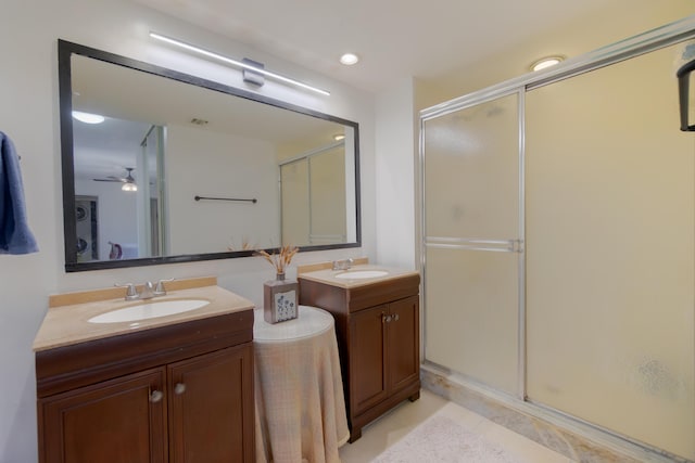
<svg viewBox="0 0 695 463">
<path fill-rule="evenodd" d="M 425 359 L 518 393 L 519 95 L 424 125 Z"/>
</svg>

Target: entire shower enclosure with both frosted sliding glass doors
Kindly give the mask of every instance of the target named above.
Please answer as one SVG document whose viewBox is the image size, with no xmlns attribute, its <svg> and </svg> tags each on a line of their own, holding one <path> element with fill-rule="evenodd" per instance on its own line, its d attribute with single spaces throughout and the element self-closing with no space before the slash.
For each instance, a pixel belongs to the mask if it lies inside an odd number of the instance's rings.
<svg viewBox="0 0 695 463">
<path fill-rule="evenodd" d="M 419 166 L 425 362 L 681 460 L 695 139 L 674 62 L 693 28 L 425 110 Z"/>
</svg>

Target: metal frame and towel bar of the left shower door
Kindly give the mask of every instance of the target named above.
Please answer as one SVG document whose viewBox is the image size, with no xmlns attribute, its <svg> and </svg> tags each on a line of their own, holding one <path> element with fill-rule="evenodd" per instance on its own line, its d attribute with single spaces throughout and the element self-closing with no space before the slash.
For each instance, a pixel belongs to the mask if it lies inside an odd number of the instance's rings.
<svg viewBox="0 0 695 463">
<path fill-rule="evenodd" d="M 425 210 L 425 193 L 427 189 L 426 184 L 426 169 L 425 169 L 425 137 L 426 137 L 426 128 L 425 125 L 428 120 L 437 119 L 438 117 L 446 116 L 448 114 L 455 113 L 462 110 L 468 110 L 475 107 L 480 104 L 490 103 L 494 100 L 503 99 L 510 95 L 517 95 L 517 136 L 518 136 L 518 152 L 517 152 L 517 175 L 519 181 L 519 190 L 517 192 L 517 211 L 518 211 L 518 229 L 517 235 L 515 239 L 510 241 L 486 241 L 486 240 L 455 240 L 455 239 L 437 239 L 429 241 L 428 236 L 425 235 L 425 231 L 427 230 L 427 210 Z M 452 104 L 451 106 L 442 107 L 440 111 L 433 111 L 428 114 L 421 113 L 420 117 L 420 150 L 419 150 L 419 200 L 421 204 L 421 215 L 420 215 L 420 269 L 422 274 L 422 359 L 427 360 L 427 311 L 426 308 L 426 292 L 427 292 L 427 247 L 445 247 L 452 249 L 470 249 L 470 250 L 480 250 L 480 252 L 508 252 L 517 254 L 517 284 L 518 284 L 518 295 L 517 295 L 517 323 L 518 323 L 518 333 L 517 333 L 517 390 L 516 396 L 526 400 L 526 185 L 525 185 L 525 131 L 526 131 L 526 121 L 525 121 L 525 99 L 526 99 L 526 89 L 523 88 L 505 88 L 500 89 L 498 91 L 483 92 L 480 95 L 471 95 L 472 98 L 460 101 L 459 103 Z M 439 241 L 439 242 L 438 242 Z M 503 245 L 507 245 L 507 247 L 503 247 Z M 439 365 L 443 366 L 443 365 Z M 473 380 L 475 381 L 475 380 Z"/>
</svg>

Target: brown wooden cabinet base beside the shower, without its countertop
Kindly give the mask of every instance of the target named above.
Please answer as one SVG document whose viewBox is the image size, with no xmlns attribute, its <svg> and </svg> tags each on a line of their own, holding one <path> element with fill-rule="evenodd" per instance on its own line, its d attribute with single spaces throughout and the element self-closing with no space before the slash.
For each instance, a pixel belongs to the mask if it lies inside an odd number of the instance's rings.
<svg viewBox="0 0 695 463">
<path fill-rule="evenodd" d="M 349 288 L 299 278 L 300 303 L 336 319 L 351 442 L 401 401 L 419 398 L 419 281 L 410 274 Z"/>
</svg>

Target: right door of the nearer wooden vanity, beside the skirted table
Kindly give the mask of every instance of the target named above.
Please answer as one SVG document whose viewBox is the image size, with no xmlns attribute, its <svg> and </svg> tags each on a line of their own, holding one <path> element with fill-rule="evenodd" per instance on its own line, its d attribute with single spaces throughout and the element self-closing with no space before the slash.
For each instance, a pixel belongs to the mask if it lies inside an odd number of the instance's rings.
<svg viewBox="0 0 695 463">
<path fill-rule="evenodd" d="M 252 462 L 253 345 L 168 366 L 170 461 Z"/>
</svg>

